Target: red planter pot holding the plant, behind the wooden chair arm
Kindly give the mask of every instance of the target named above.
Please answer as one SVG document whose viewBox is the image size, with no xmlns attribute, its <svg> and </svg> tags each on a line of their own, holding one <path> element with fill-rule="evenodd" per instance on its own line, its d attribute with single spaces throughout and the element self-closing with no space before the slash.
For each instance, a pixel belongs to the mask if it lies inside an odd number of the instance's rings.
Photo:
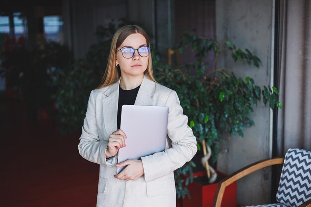
<svg viewBox="0 0 311 207">
<path fill-rule="evenodd" d="M 219 171 L 217 173 L 223 177 L 227 176 Z M 195 172 L 193 176 L 206 176 L 206 172 Z M 180 207 L 212 207 L 217 186 L 218 183 L 209 185 L 201 185 L 197 182 L 190 183 L 188 190 L 191 199 L 185 197 Z M 236 207 L 236 182 L 226 187 L 221 207 Z"/>
</svg>

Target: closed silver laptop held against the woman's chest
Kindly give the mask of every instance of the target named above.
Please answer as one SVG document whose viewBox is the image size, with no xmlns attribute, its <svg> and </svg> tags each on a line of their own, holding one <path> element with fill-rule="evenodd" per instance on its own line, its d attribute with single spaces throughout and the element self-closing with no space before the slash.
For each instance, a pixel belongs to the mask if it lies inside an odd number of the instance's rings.
<svg viewBox="0 0 311 207">
<path fill-rule="evenodd" d="M 119 149 L 118 163 L 165 150 L 168 121 L 166 106 L 123 105 L 121 125 L 127 139 Z M 118 167 L 117 173 L 125 167 Z"/>
</svg>

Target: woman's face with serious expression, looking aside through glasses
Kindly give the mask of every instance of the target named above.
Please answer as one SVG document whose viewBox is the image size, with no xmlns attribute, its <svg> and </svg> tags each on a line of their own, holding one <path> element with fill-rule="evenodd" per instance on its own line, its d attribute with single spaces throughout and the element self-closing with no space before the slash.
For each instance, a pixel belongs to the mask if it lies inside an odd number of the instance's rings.
<svg viewBox="0 0 311 207">
<path fill-rule="evenodd" d="M 146 39 L 139 33 L 129 35 L 120 47 L 117 48 L 116 64 L 119 65 L 121 70 L 121 76 L 140 76 L 144 75 L 148 65 L 148 57 L 142 57 L 135 50 L 132 58 L 124 58 L 122 52 L 119 49 L 122 48 L 133 48 L 138 49 L 140 47 L 147 46 Z M 150 55 L 150 54 L 149 54 Z"/>
</svg>

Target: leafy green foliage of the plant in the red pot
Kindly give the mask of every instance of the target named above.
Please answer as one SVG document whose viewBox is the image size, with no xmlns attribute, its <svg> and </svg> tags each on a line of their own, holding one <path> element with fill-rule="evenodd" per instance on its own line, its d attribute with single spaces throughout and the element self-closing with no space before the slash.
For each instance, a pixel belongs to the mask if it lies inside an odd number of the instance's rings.
<svg viewBox="0 0 311 207">
<path fill-rule="evenodd" d="M 177 91 L 184 114 L 189 117 L 189 126 L 197 137 L 198 149 L 201 148 L 199 143 L 205 140 L 212 148 L 215 162 L 224 134 L 243 137 L 245 127 L 254 125 L 250 118 L 253 106 L 263 100 L 271 108 L 275 105 L 281 108 L 276 96 L 278 91 L 270 86 L 257 86 L 250 77 L 238 78 L 229 69 L 216 68 L 222 51 L 230 51 L 235 62 L 246 61 L 249 66 L 253 64 L 259 68 L 260 59 L 248 49 L 239 49 L 230 41 L 220 45 L 216 40 L 185 33 L 178 46 L 179 52 L 188 46 L 195 52 L 195 61 L 176 67 L 156 62 L 156 80 Z M 215 59 L 213 69 L 207 71 L 209 52 L 215 53 Z M 175 171 L 178 197 L 190 196 L 185 187 L 193 181 L 193 167 L 195 163 L 190 161 Z"/>
</svg>

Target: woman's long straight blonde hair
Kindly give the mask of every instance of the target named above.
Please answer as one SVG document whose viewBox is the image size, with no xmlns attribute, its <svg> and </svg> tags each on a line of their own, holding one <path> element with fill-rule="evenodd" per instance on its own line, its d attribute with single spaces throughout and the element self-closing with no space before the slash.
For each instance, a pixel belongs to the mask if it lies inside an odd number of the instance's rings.
<svg viewBox="0 0 311 207">
<path fill-rule="evenodd" d="M 106 71 L 97 89 L 111 85 L 119 80 L 120 71 L 116 66 L 116 49 L 120 47 L 120 45 L 129 35 L 135 33 L 143 35 L 146 39 L 147 45 L 150 46 L 149 37 L 141 27 L 137 25 L 126 25 L 119 28 L 112 37 Z M 144 72 L 144 75 L 146 75 L 150 80 L 156 82 L 152 69 L 151 52 L 148 56 L 148 65 L 147 69 Z"/>
</svg>

